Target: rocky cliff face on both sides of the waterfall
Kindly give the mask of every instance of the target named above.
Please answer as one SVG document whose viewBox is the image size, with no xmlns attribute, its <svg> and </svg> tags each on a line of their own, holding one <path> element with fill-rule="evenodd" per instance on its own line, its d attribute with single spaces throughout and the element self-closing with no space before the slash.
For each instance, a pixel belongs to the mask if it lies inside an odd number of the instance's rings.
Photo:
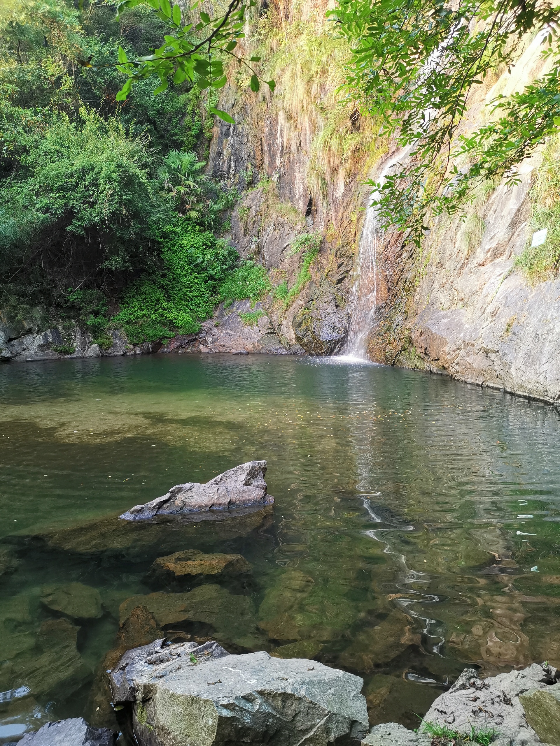
<svg viewBox="0 0 560 746">
<path fill-rule="evenodd" d="M 234 112 L 237 125 L 217 125 L 211 149 L 214 176 L 245 190 L 232 219 L 232 240 L 240 254 L 270 269 L 274 286 L 284 281 L 295 288 L 283 300 L 276 291 L 276 297 L 273 292 L 264 301 L 273 329 L 287 349 L 299 345 L 309 354 L 336 354 L 343 348 L 353 322 L 352 283 L 359 281 L 363 261 L 359 245 L 367 195 L 360 182 L 366 175 L 379 176 L 384 164 L 398 156 L 353 110 L 341 110 L 339 126 L 331 127 L 329 97 L 338 78 L 327 67 L 340 70 L 343 51 L 338 48 L 335 54 L 330 48 L 320 84 L 306 72 L 305 65 L 312 63 L 302 53 L 310 28 L 317 37 L 326 33 L 325 10 L 306 2 L 297 9 L 295 4 L 270 7 L 269 18 L 279 26 L 279 51 L 269 63 L 277 92 L 259 98 L 240 93 L 232 82 L 224 107 Z M 255 28 L 262 35 L 258 24 Z M 274 37 L 270 25 L 267 34 Z M 537 37 L 516 68 L 485 86 L 472 102 L 465 129 L 482 122 L 485 100 L 519 90 L 541 74 L 540 51 Z M 275 68 L 277 58 L 284 67 L 277 60 Z M 311 94 L 306 97 L 301 87 Z M 299 113 L 294 113 L 293 98 Z M 349 158 L 352 133 L 355 152 Z M 340 140 L 346 148 L 336 151 Z M 514 267 L 534 230 L 529 189 L 539 162 L 537 155 L 523 163 L 517 186 L 502 184 L 477 198 L 466 222 L 441 219 L 421 253 L 403 245 L 398 234 L 384 236 L 376 257 L 372 313 L 362 322 L 369 325 L 365 332 L 372 360 L 559 401 L 560 280 L 531 285 Z M 290 242 L 311 231 L 320 231 L 321 251 L 308 280 L 298 287 L 302 255 L 290 251 Z"/>
</svg>

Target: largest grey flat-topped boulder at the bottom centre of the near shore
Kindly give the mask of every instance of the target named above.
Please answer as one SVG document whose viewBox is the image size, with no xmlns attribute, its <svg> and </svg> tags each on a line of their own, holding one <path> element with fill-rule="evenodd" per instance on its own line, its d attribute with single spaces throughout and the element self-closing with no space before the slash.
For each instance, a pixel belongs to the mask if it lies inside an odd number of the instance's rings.
<svg viewBox="0 0 560 746">
<path fill-rule="evenodd" d="M 326 746 L 368 729 L 363 680 L 307 659 L 228 655 L 192 642 L 128 651 L 111 671 L 115 702 L 131 702 L 140 746 Z"/>
</svg>

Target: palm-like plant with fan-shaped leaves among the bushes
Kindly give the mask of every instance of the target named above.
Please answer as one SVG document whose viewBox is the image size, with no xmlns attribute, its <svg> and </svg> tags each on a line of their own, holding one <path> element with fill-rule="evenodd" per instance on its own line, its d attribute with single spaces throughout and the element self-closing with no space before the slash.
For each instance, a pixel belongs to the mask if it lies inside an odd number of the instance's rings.
<svg viewBox="0 0 560 746">
<path fill-rule="evenodd" d="M 193 150 L 170 150 L 158 169 L 161 186 L 178 199 L 184 215 L 191 220 L 200 218 L 200 200 L 210 184 L 210 179 L 202 172 L 205 165 Z"/>
</svg>

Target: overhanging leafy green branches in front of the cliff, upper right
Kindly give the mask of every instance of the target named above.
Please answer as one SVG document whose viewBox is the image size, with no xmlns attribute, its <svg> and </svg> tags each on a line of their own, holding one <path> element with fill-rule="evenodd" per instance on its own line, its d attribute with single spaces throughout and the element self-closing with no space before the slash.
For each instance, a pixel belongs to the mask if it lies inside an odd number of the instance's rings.
<svg viewBox="0 0 560 746">
<path fill-rule="evenodd" d="M 546 1 L 339 0 L 331 14 L 352 46 L 350 95 L 408 148 L 407 165 L 382 185 L 379 215 L 418 244 L 426 217 L 461 210 L 481 181 L 516 181 L 517 164 L 560 121 L 555 66 L 490 104 L 498 119 L 470 137 L 459 134 L 473 87 L 514 63 L 524 35 L 550 25 L 544 54 L 558 56 L 559 13 Z"/>
</svg>

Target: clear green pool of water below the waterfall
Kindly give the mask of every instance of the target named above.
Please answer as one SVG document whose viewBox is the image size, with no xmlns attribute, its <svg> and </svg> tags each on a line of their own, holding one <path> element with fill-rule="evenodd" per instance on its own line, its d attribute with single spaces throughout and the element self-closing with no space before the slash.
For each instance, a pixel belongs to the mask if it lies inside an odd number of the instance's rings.
<svg viewBox="0 0 560 746">
<path fill-rule="evenodd" d="M 297 643 L 281 654 L 364 678 L 373 722 L 414 726 L 467 664 L 560 666 L 553 407 L 380 366 L 154 356 L 1 366 L 0 423 L 0 743 L 102 719 L 92 672 L 119 604 L 185 548 L 254 567 L 230 589 L 250 618 L 185 631 L 236 650 Z M 116 517 L 263 458 L 276 503 L 262 523 Z M 66 634 L 40 596 L 76 581 L 99 590 L 102 616 Z"/>
</svg>

